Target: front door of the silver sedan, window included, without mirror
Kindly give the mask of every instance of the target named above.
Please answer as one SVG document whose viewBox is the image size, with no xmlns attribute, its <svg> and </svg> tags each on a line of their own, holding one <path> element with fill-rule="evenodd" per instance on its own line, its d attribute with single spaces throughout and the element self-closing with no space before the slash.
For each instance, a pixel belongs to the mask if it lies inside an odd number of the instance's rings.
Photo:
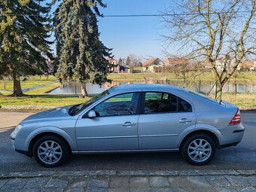
<svg viewBox="0 0 256 192">
<path fill-rule="evenodd" d="M 81 117 L 76 123 L 79 151 L 137 150 L 140 93 L 122 93 L 99 103 L 96 117 Z"/>
</svg>

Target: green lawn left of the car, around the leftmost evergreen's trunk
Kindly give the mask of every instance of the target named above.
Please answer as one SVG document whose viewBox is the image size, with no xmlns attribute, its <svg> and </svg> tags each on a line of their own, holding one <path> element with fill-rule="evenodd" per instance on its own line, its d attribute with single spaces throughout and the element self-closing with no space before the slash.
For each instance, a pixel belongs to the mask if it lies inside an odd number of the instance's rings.
<svg viewBox="0 0 256 192">
<path fill-rule="evenodd" d="M 21 80 L 23 78 L 20 78 Z M 28 81 L 21 81 L 22 89 L 34 87 L 38 84 L 44 84 L 44 87 L 36 88 L 25 92 L 25 96 L 11 97 L 10 91 L 4 90 L 4 83 L 6 90 L 13 90 L 13 81 L 0 81 L 0 105 L 44 105 L 44 106 L 57 106 L 57 105 L 74 105 L 81 102 L 86 102 L 88 99 L 79 98 L 78 95 L 72 94 L 47 94 L 48 90 L 59 87 L 59 82 L 53 75 L 46 76 L 31 76 Z"/>
</svg>

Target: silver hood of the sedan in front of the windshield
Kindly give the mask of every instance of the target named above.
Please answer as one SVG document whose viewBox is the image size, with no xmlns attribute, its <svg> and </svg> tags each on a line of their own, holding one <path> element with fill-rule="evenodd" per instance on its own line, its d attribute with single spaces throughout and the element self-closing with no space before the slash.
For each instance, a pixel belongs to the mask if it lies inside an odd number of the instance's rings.
<svg viewBox="0 0 256 192">
<path fill-rule="evenodd" d="M 31 116 L 27 117 L 25 120 L 23 120 L 20 123 L 27 123 L 29 121 L 34 120 L 50 120 L 53 118 L 61 118 L 61 117 L 72 117 L 69 115 L 69 108 L 71 108 L 72 105 L 65 106 L 65 107 L 59 107 L 59 108 L 53 108 L 47 111 L 42 111 L 37 114 L 32 114 Z"/>
</svg>

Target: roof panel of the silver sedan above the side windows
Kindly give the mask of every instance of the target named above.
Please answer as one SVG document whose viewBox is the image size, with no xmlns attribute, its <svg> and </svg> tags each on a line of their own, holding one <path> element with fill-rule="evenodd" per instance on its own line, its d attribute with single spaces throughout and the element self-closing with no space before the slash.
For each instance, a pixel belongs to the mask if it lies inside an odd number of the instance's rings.
<svg viewBox="0 0 256 192">
<path fill-rule="evenodd" d="M 109 93 L 130 91 L 130 90 L 180 90 L 187 91 L 184 88 L 176 87 L 174 85 L 169 84 L 122 84 L 117 87 L 111 87 L 109 89 Z"/>
</svg>

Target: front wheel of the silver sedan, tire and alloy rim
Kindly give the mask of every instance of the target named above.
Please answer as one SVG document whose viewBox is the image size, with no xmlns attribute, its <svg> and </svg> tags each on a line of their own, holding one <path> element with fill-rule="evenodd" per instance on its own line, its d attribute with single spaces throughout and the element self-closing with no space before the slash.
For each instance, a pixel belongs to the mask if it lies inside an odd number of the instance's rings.
<svg viewBox="0 0 256 192">
<path fill-rule="evenodd" d="M 59 166 L 68 159 L 69 154 L 69 146 L 56 136 L 41 137 L 33 148 L 35 160 L 45 167 Z"/>
</svg>

